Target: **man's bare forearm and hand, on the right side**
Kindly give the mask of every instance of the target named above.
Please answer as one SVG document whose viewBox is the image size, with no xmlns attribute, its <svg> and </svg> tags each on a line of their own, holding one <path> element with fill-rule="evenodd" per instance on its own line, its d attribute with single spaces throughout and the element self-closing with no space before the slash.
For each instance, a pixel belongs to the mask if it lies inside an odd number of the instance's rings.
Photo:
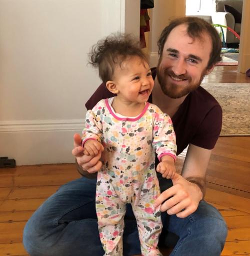
<svg viewBox="0 0 250 256">
<path fill-rule="evenodd" d="M 161 211 L 166 211 L 169 215 L 176 214 L 180 218 L 193 213 L 203 198 L 203 184 L 210 155 L 211 150 L 189 145 L 182 176 L 175 174 L 173 186 L 160 194 L 154 206 L 161 204 Z"/>
</svg>

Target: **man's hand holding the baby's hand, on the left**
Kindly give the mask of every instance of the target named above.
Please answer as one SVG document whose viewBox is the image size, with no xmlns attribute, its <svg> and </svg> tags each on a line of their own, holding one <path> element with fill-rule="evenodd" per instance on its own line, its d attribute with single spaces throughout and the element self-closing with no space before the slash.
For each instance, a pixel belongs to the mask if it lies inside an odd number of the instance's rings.
<svg viewBox="0 0 250 256">
<path fill-rule="evenodd" d="M 74 148 L 72 149 L 72 155 L 75 157 L 77 164 L 88 173 L 98 172 L 101 168 L 101 162 L 99 161 L 103 146 L 101 150 L 94 156 L 86 156 L 83 154 L 83 148 L 81 146 L 81 137 L 79 134 L 74 134 Z"/>
</svg>

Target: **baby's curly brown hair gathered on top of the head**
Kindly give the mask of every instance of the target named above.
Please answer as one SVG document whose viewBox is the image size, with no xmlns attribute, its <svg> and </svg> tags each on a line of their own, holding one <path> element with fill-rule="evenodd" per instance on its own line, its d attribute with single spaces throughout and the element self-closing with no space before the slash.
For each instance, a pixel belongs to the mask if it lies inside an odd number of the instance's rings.
<svg viewBox="0 0 250 256">
<path fill-rule="evenodd" d="M 98 67 L 99 77 L 106 83 L 113 79 L 114 69 L 117 65 L 121 67 L 123 61 L 128 57 L 139 57 L 147 61 L 142 52 L 139 41 L 131 34 L 114 33 L 93 45 L 88 54 L 93 67 Z"/>
</svg>

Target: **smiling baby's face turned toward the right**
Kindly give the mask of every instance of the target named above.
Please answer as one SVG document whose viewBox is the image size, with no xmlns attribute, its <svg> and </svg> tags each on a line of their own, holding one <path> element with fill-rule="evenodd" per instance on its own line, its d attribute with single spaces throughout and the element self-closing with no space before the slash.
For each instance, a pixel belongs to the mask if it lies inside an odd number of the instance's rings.
<svg viewBox="0 0 250 256">
<path fill-rule="evenodd" d="M 113 80 L 119 98 L 137 103 L 148 100 L 154 84 L 148 63 L 139 57 L 129 57 L 117 65 Z"/>
</svg>

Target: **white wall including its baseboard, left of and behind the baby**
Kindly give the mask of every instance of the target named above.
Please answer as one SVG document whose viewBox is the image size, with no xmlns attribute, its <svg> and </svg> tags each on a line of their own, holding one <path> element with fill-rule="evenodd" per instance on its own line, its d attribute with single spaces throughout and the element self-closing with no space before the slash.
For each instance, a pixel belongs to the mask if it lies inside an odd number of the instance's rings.
<svg viewBox="0 0 250 256">
<path fill-rule="evenodd" d="M 69 163 L 99 85 L 92 44 L 139 32 L 139 0 L 0 0 L 0 157 Z"/>
</svg>

